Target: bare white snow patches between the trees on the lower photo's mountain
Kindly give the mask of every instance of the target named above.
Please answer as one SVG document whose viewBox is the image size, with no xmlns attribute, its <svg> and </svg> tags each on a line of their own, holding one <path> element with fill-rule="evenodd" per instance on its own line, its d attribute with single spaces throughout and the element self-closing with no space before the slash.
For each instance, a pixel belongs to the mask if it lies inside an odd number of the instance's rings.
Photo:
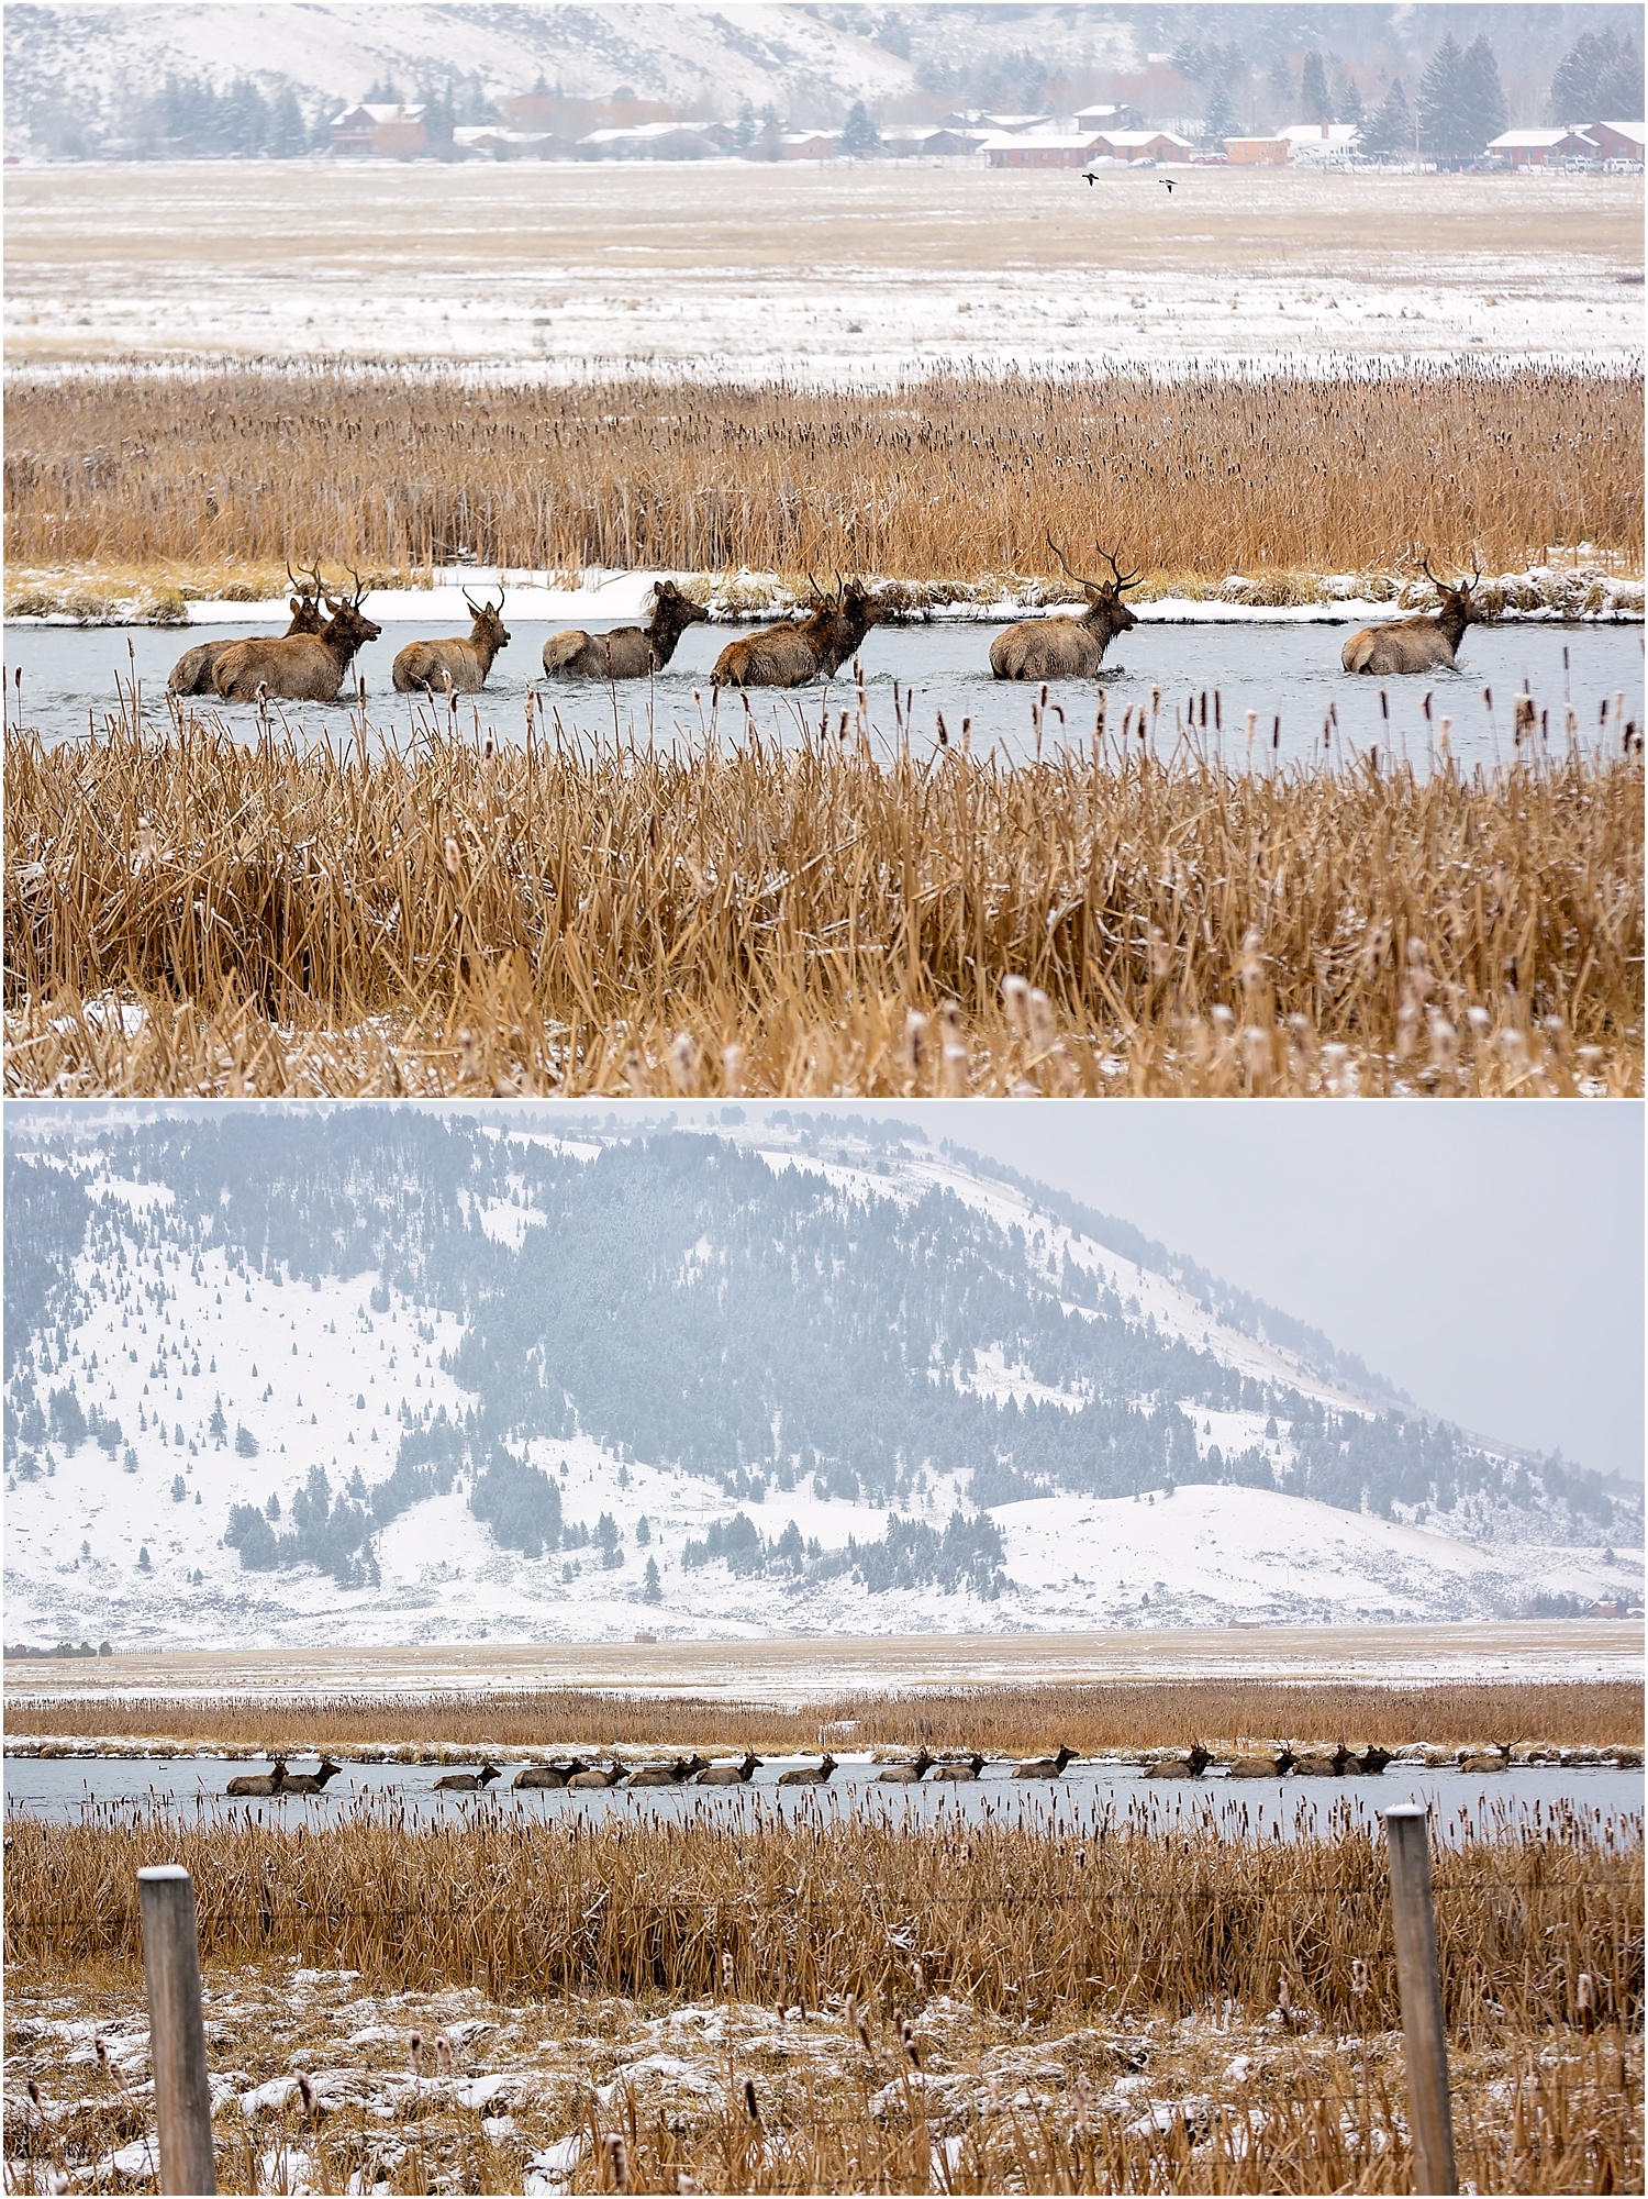
<svg viewBox="0 0 1648 2199">
<path fill-rule="evenodd" d="M 563 1150 L 589 1157 L 595 1148 Z M 817 1170 L 859 1196 L 910 1201 L 943 1185 L 1004 1227 L 1022 1227 L 1031 1258 L 1048 1273 L 1061 1273 L 1068 1256 L 1101 1275 L 1129 1317 L 1154 1319 L 1268 1383 L 1358 1410 L 1292 1355 L 1217 1328 L 1178 1284 L 938 1154 L 899 1161 L 883 1179 L 870 1168 L 771 1146 L 760 1150 L 773 1168 Z M 105 1187 L 132 1209 L 169 1198 L 134 1183 Z M 519 1242 L 534 1225 L 519 1196 L 516 1190 L 481 1216 L 503 1242 Z M 132 1245 L 127 1258 L 136 1262 Z M 81 1405 L 97 1403 L 121 1421 L 138 1469 L 123 1471 L 119 1456 L 108 1458 L 90 1440 L 73 1454 L 53 1445 L 51 1476 L 9 1487 L 9 1638 L 108 1636 L 125 1649 L 316 1640 L 365 1647 L 488 1638 L 600 1643 L 650 1629 L 664 1640 L 756 1640 L 795 1632 L 991 1634 L 1217 1625 L 1226 1618 L 1470 1618 L 1514 1607 L 1536 1590 L 1633 1601 L 1641 1594 L 1639 1552 L 1606 1559 L 1591 1548 L 1505 1541 L 1503 1535 L 1468 1541 L 1433 1526 L 1343 1513 L 1270 1491 L 1200 1484 L 1171 1498 L 1061 1495 L 1000 1506 L 993 1517 L 1006 1544 L 1011 1585 L 995 1601 L 936 1588 L 870 1594 L 850 1579 L 820 1585 L 767 1577 L 738 1581 L 723 1563 L 683 1563 L 686 1541 L 701 1537 L 712 1520 L 730 1517 L 738 1509 L 734 1500 L 712 1482 L 650 1465 L 628 1467 L 628 1487 L 620 1487 L 617 1460 L 582 1436 L 534 1440 L 530 1456 L 560 1478 L 567 1520 L 593 1528 L 600 1513 L 611 1513 L 624 1548 L 617 1568 L 602 1568 L 593 1548 L 543 1559 L 499 1548 L 468 1511 L 464 1478 L 450 1495 L 413 1506 L 378 1535 L 378 1590 L 341 1590 L 312 1568 L 246 1572 L 237 1552 L 222 1546 L 231 1504 L 261 1509 L 275 1493 L 286 1526 L 292 1495 L 312 1465 L 327 1471 L 334 1489 L 347 1484 L 356 1465 L 367 1484 L 391 1471 L 402 1405 L 413 1414 L 426 1405 L 466 1410 L 470 1399 L 439 1368 L 459 1330 L 450 1317 L 400 1300 L 389 1313 L 374 1313 L 369 1291 L 378 1278 L 369 1273 L 321 1289 L 257 1275 L 242 1280 L 229 1273 L 220 1251 L 211 1251 L 202 1256 L 198 1282 L 187 1267 L 171 1267 L 169 1253 L 163 1278 L 178 1295 L 156 1315 L 136 1291 L 138 1282 L 154 1280 L 154 1253 L 145 1253 L 141 1271 L 127 1273 L 125 1297 L 99 1295 L 108 1271 L 94 1275 L 88 1264 L 81 1275 L 92 1311 L 68 1337 L 66 1370 L 46 1377 L 42 1388 L 62 1385 L 73 1372 Z M 971 1368 L 934 1370 L 934 1379 L 995 1396 L 1057 1396 L 1022 1368 L 1006 1366 L 1000 1352 Z M 207 1434 L 218 1396 L 229 1447 L 215 1447 Z M 1074 1396 L 1064 1401 L 1079 1403 Z M 242 1423 L 259 1445 L 255 1458 L 233 1449 Z M 1263 1438 L 1257 1414 L 1200 1414 L 1195 1429 L 1202 1451 L 1217 1443 L 1226 1456 L 1248 1445 L 1279 1462 L 1290 1456 L 1285 1438 Z M 182 1502 L 171 1495 L 176 1476 L 182 1476 Z M 965 1495 L 965 1473 L 936 1473 L 905 1513 L 943 1526 Z M 765 1537 L 778 1537 L 793 1520 L 802 1537 L 817 1539 L 824 1550 L 842 1548 L 848 1537 L 877 1541 L 886 1528 L 881 1509 L 820 1500 L 811 1482 L 791 1493 L 771 1489 L 765 1504 L 745 1509 Z M 650 1528 L 648 1546 L 637 1541 L 642 1517 Z M 147 1572 L 138 1566 L 143 1548 Z M 659 1605 L 642 1601 L 648 1555 L 661 1572 Z"/>
</svg>

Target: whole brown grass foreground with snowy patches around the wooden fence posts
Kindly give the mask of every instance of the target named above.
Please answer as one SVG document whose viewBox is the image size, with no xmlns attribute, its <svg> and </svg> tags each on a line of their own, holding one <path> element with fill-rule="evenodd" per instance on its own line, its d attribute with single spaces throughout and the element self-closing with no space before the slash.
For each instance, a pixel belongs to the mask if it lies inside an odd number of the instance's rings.
<svg viewBox="0 0 1648 2199">
<path fill-rule="evenodd" d="M 554 2140 L 580 2190 L 1411 2179 L 1384 1856 L 1332 1812 L 1290 1843 L 1149 1803 L 1055 1832 L 817 1810 L 569 1832 L 486 1808 L 321 1838 L 7 1830 L 9 2082 L 37 2087 L 7 2096 L 7 2155 L 42 2168 L 147 2124 L 134 1871 L 165 1856 L 198 1891 L 220 2188 L 290 2153 L 325 2190 L 367 2162 L 393 2190 L 508 2190 Z M 1639 2188 L 1641 1823 L 1452 1832 L 1461 2175 Z M 235 2102 L 277 2076 L 261 2120 Z"/>
</svg>

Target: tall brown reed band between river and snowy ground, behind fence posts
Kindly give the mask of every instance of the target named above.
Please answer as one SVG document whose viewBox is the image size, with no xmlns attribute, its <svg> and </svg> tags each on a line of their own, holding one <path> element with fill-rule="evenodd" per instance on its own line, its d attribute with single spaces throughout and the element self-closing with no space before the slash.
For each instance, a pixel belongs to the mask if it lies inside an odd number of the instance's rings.
<svg viewBox="0 0 1648 2199">
<path fill-rule="evenodd" d="M 846 1992 L 989 2014 L 1191 2014 L 1288 2003 L 1334 2027 L 1398 2021 L 1382 1845 L 1349 1801 L 1316 1836 L 1246 1838 L 1246 1803 L 1140 1797 L 903 1823 L 828 1790 L 780 1819 L 738 1797 L 690 1823 L 538 1821 L 477 1805 L 420 1823 L 358 1803 L 321 1827 L 261 1812 L 7 1821 L 7 1964 L 33 1975 L 141 1962 L 136 1871 L 182 1863 L 200 1953 L 297 1957 L 374 1990 L 481 1983 L 541 1999 L 714 1999 L 824 2008 Z M 1307 1812 L 1310 1830 L 1310 1812 Z M 1571 2021 L 1578 1977 L 1635 2021 L 1644 1994 L 1641 1816 L 1569 1805 L 1455 1814 L 1437 1849 L 1448 2023 Z M 1360 1959 L 1369 1988 L 1351 1970 Z M 1602 2005 L 1602 2003 L 1600 2003 Z"/>
</svg>

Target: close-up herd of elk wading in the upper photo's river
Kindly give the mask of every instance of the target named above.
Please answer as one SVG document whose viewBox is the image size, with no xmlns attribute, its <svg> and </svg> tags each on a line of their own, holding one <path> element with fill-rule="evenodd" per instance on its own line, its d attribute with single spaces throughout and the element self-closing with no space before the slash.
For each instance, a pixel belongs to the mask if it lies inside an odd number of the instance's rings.
<svg viewBox="0 0 1648 2199">
<path fill-rule="evenodd" d="M 1140 572 L 1125 574 L 1116 556 L 1101 550 L 1110 578 L 1094 581 L 1070 570 L 1050 534 L 1048 548 L 1088 598 L 1088 607 L 1079 616 L 1022 618 L 998 633 L 989 651 L 998 679 L 1092 679 L 1114 638 L 1138 625 L 1123 596 L 1129 587 L 1138 587 Z M 1481 572 L 1459 587 L 1439 581 L 1428 559 L 1424 572 L 1441 594 L 1441 609 L 1362 627 L 1340 651 L 1347 673 L 1389 677 L 1455 666 L 1466 627 L 1483 618 L 1472 596 Z M 224 701 L 336 701 L 354 658 L 365 642 L 378 640 L 382 627 L 360 609 L 365 587 L 358 574 L 352 572 L 354 589 L 347 594 L 330 589 L 316 565 L 303 567 L 301 581 L 288 565 L 286 578 L 292 583 L 288 605 L 292 622 L 286 633 L 185 649 L 171 666 L 169 690 L 218 695 Z M 402 695 L 477 695 L 486 686 L 494 658 L 510 647 L 503 587 L 497 605 L 475 603 L 464 589 L 464 605 L 472 618 L 468 633 L 409 642 L 398 653 L 393 682 Z M 615 627 L 611 633 L 569 627 L 552 633 L 543 644 L 545 675 L 600 682 L 650 679 L 668 666 L 686 629 L 708 616 L 708 609 L 675 581 L 659 581 L 644 627 Z M 710 686 L 795 688 L 813 679 L 833 679 L 864 647 L 870 629 L 888 625 L 894 616 L 894 605 L 875 596 L 861 581 L 837 578 L 828 592 L 815 581 L 813 605 L 802 618 L 787 618 L 727 642 L 714 662 Z"/>
</svg>

